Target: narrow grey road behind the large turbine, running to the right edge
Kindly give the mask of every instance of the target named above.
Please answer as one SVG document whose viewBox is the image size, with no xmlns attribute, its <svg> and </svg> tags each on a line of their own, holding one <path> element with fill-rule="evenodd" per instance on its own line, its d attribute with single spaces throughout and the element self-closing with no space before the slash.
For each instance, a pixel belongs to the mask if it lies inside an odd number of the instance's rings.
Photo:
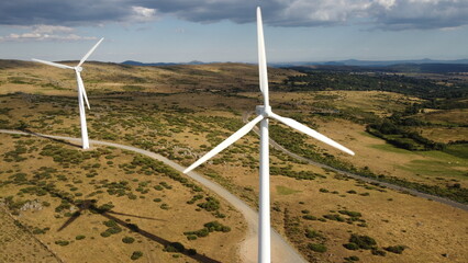
<svg viewBox="0 0 468 263">
<path fill-rule="evenodd" d="M 243 122 L 247 123 L 249 116 L 250 116 L 250 113 L 244 113 L 244 115 L 243 115 Z M 254 133 L 256 133 L 257 135 L 259 135 L 259 130 L 258 130 L 257 127 L 255 127 L 253 130 L 254 130 Z M 343 170 L 339 170 L 339 169 L 336 169 L 336 168 L 333 168 L 333 167 L 328 167 L 326 164 L 323 164 L 323 163 L 320 163 L 320 162 L 315 162 L 315 161 L 312 161 L 312 160 L 310 160 L 308 158 L 298 156 L 294 152 L 291 152 L 288 149 L 286 149 L 285 147 L 278 145 L 278 142 L 276 142 L 271 138 L 269 139 L 269 142 L 270 142 L 270 146 L 274 147 L 275 149 L 282 151 L 283 153 L 286 153 L 286 155 L 288 155 L 288 156 L 290 156 L 290 157 L 292 157 L 292 158 L 294 158 L 294 159 L 297 159 L 299 161 L 303 161 L 303 162 L 307 162 L 309 164 L 312 164 L 312 165 L 315 165 L 315 167 L 320 167 L 320 168 L 323 168 L 323 169 L 332 170 L 334 172 L 344 174 L 344 175 L 353 178 L 353 179 L 358 179 L 358 180 L 361 180 L 361 181 L 367 182 L 367 183 L 378 183 L 379 185 L 383 185 L 383 186 L 386 186 L 388 188 L 391 188 L 391 190 L 401 191 L 401 192 L 408 192 L 408 193 L 410 193 L 412 195 L 415 195 L 415 196 L 419 196 L 419 197 L 423 197 L 423 198 L 426 198 L 426 199 L 432 199 L 434 202 L 438 202 L 438 203 L 442 203 L 442 204 L 445 204 L 445 205 L 448 205 L 448 206 L 456 207 L 456 208 L 459 208 L 459 209 L 468 211 L 468 205 L 465 205 L 465 204 L 461 204 L 461 203 L 458 203 L 458 202 L 455 202 L 455 201 L 452 201 L 452 199 L 447 199 L 447 198 L 444 198 L 444 197 L 439 197 L 439 196 L 436 196 L 436 195 L 431 195 L 431 194 L 422 193 L 422 192 L 419 192 L 419 191 L 415 191 L 415 190 L 412 190 L 412 188 L 406 188 L 406 187 L 403 187 L 403 186 L 400 186 L 400 185 L 395 185 L 395 184 L 382 182 L 382 181 L 375 180 L 375 179 L 371 179 L 371 178 L 366 178 L 366 176 L 357 175 L 357 174 L 354 174 L 354 173 L 350 173 L 350 172 L 346 172 L 346 171 L 343 171 Z"/>
</svg>

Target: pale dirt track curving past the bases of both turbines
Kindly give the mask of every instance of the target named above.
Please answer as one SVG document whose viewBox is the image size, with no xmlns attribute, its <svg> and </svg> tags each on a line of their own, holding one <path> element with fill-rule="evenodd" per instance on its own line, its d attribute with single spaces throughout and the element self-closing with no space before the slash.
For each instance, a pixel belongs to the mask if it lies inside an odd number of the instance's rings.
<svg viewBox="0 0 468 263">
<path fill-rule="evenodd" d="M 51 139 L 60 139 L 60 140 L 68 140 L 68 141 L 77 141 L 81 142 L 81 138 L 71 138 L 71 137 L 65 137 L 65 136 L 52 136 L 52 135 L 43 135 L 43 134 L 35 134 L 35 133 L 25 133 L 20 130 L 10 130 L 10 129 L 0 129 L 0 133 L 2 134 L 15 134 L 15 135 L 32 135 L 43 138 L 51 138 Z M 89 140 L 91 145 L 102 145 L 102 146 L 111 146 L 124 150 L 134 151 L 144 156 L 147 156 L 149 158 L 153 158 L 155 160 L 161 161 L 165 164 L 171 167 L 172 169 L 182 172 L 186 168 L 160 156 L 157 153 L 154 153 L 152 151 L 143 150 L 136 147 L 132 146 L 125 146 L 125 145 L 119 145 L 114 142 L 109 141 L 101 141 L 101 140 Z M 197 172 L 189 172 L 187 174 L 194 181 L 201 183 L 207 188 L 213 191 L 224 199 L 226 199 L 232 206 L 234 206 L 238 211 L 241 211 L 244 215 L 244 218 L 247 222 L 248 229 L 245 240 L 242 242 L 239 248 L 241 258 L 244 263 L 254 263 L 257 262 L 257 243 L 258 243 L 258 213 L 250 208 L 247 204 L 245 204 L 242 199 L 239 199 L 237 196 L 231 194 L 227 190 L 223 188 L 221 185 L 203 178 Z M 275 229 L 271 228 L 271 262 L 274 263 L 307 263 L 305 261 L 297 251 L 294 248 L 292 248 L 291 244 L 289 244 Z"/>
</svg>

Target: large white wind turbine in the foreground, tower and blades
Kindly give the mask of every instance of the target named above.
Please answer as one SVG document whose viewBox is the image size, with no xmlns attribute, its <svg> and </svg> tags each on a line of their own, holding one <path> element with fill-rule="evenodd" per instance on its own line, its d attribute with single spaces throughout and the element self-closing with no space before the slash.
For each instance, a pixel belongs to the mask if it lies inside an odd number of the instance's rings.
<svg viewBox="0 0 468 263">
<path fill-rule="evenodd" d="M 268 148 L 268 119 L 274 118 L 283 123 L 297 130 L 300 130 L 320 141 L 323 141 L 330 146 L 333 146 L 346 153 L 354 156 L 354 152 L 348 148 L 339 145 L 338 142 L 327 138 L 326 136 L 298 123 L 297 121 L 288 117 L 281 117 L 278 114 L 271 112 L 268 99 L 268 76 L 267 76 L 267 60 L 265 55 L 265 41 L 264 41 L 264 27 L 261 22 L 261 11 L 257 8 L 257 37 L 258 37 L 258 71 L 259 71 L 259 84 L 264 95 L 264 105 L 257 106 L 258 116 L 247 123 L 239 130 L 231 135 L 223 142 L 214 147 L 211 151 L 187 168 L 183 173 L 188 173 L 198 165 L 202 164 L 210 158 L 218 155 L 220 151 L 234 144 L 241 137 L 250 132 L 255 125 L 260 123 L 260 196 L 259 196 L 259 232 L 258 232 L 258 262 L 270 263 L 270 192 L 269 192 L 269 148 Z"/>
</svg>

